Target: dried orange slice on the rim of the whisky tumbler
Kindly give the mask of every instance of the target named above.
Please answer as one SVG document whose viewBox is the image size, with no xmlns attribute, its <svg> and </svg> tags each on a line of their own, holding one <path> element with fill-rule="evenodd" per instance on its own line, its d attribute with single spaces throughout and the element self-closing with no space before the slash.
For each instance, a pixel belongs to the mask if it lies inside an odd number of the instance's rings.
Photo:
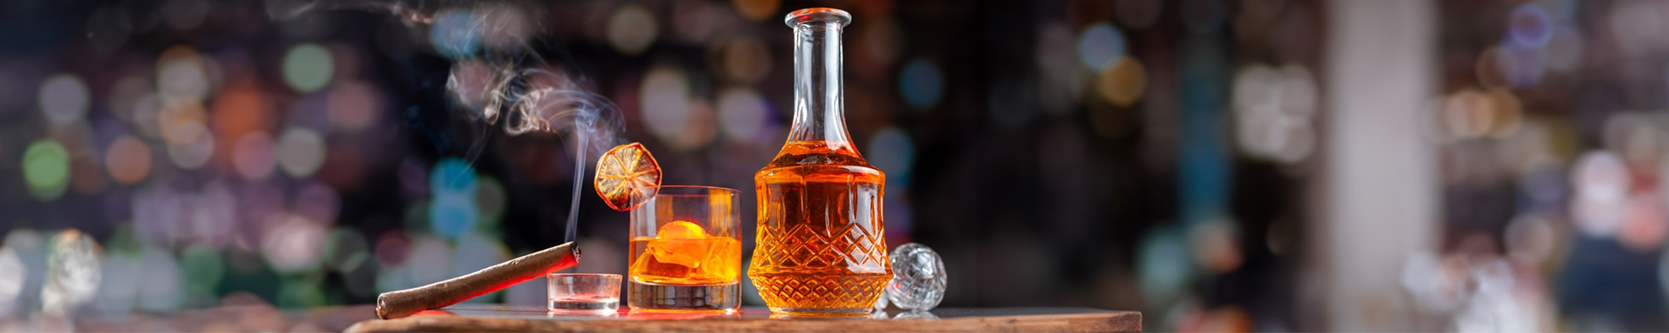
<svg viewBox="0 0 1669 333">
<path fill-rule="evenodd" d="M 618 145 L 598 158 L 596 185 L 603 203 L 628 211 L 661 191 L 661 163 L 643 143 Z"/>
</svg>

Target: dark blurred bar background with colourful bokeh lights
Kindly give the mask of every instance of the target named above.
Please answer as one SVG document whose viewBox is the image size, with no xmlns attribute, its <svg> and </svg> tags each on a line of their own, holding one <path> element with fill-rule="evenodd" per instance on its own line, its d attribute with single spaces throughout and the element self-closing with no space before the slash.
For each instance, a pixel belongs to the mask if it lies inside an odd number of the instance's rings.
<svg viewBox="0 0 1669 333">
<path fill-rule="evenodd" d="M 596 152 L 492 110 L 579 92 L 666 183 L 753 201 L 804 7 L 855 17 L 848 130 L 888 243 L 945 258 L 941 306 L 1669 330 L 1652 0 L 0 2 L 0 328 L 366 305 L 576 210 L 574 270 L 623 273 L 626 213 L 572 175 Z"/>
</svg>

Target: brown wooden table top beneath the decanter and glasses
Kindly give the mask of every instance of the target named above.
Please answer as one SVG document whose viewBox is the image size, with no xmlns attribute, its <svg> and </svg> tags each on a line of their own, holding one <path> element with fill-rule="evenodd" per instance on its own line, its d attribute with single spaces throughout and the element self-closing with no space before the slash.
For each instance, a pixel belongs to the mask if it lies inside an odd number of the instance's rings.
<svg viewBox="0 0 1669 333">
<path fill-rule="evenodd" d="M 366 320 L 369 331 L 1142 331 L 1142 313 L 1095 308 L 936 308 L 928 313 L 831 320 L 781 318 L 764 308 L 734 315 L 633 313 L 559 315 L 542 306 L 456 305 L 397 320 Z"/>
</svg>

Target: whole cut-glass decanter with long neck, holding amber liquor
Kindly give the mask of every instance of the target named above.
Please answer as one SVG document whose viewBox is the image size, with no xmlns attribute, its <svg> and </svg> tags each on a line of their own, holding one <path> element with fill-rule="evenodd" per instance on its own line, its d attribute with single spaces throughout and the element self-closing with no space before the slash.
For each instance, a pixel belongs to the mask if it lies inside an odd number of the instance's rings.
<svg viewBox="0 0 1669 333">
<path fill-rule="evenodd" d="M 881 223 L 886 173 L 846 135 L 836 8 L 788 13 L 794 28 L 794 123 L 754 173 L 759 228 L 748 276 L 779 315 L 866 315 L 893 278 Z"/>
</svg>

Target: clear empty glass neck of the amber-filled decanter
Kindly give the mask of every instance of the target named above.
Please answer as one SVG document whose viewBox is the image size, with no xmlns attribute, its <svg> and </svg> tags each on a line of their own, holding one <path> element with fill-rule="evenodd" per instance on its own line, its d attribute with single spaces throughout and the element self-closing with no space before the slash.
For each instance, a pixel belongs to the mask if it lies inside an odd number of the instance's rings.
<svg viewBox="0 0 1669 333">
<path fill-rule="evenodd" d="M 850 145 L 841 93 L 841 28 L 851 17 L 833 8 L 806 8 L 789 13 L 784 22 L 794 28 L 794 125 L 788 142 Z"/>
</svg>

